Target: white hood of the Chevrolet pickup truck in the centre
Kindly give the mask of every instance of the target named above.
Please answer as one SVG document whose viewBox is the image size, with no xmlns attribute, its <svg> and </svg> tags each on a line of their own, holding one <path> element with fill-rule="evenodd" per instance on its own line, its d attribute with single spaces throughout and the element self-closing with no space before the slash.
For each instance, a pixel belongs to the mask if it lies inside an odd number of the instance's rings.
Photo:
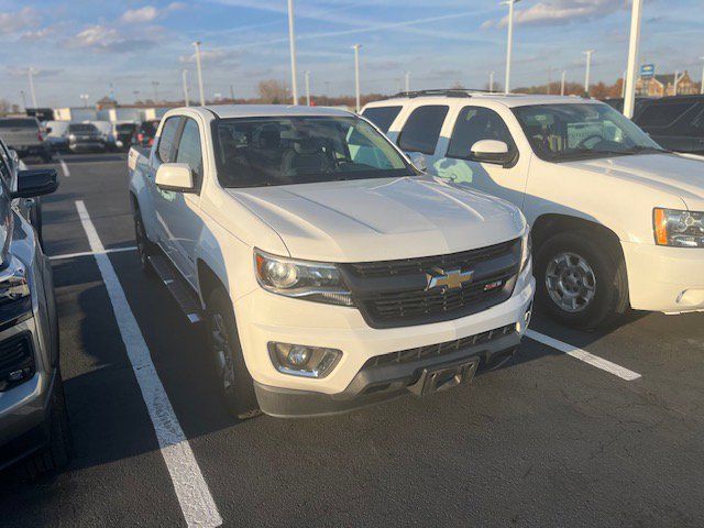
<svg viewBox="0 0 704 528">
<path fill-rule="evenodd" d="M 228 191 L 278 233 L 290 256 L 312 261 L 454 253 L 515 239 L 525 226 L 510 204 L 429 176 Z"/>
</svg>

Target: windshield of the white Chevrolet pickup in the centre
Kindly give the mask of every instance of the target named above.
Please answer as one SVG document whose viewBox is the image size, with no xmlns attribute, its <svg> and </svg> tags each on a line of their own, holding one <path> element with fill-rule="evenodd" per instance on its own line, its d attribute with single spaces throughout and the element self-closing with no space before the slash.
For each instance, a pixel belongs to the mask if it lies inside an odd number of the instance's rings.
<svg viewBox="0 0 704 528">
<path fill-rule="evenodd" d="M 394 146 L 354 117 L 226 119 L 213 124 L 223 187 L 415 175 Z"/>
</svg>

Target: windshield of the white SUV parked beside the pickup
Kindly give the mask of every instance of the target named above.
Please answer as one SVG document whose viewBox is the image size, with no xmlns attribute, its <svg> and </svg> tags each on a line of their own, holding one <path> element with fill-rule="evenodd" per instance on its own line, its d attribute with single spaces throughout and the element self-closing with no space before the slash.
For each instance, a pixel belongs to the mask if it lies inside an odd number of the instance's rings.
<svg viewBox="0 0 704 528">
<path fill-rule="evenodd" d="M 548 162 L 668 152 L 607 105 L 514 108 L 532 150 Z"/>
</svg>

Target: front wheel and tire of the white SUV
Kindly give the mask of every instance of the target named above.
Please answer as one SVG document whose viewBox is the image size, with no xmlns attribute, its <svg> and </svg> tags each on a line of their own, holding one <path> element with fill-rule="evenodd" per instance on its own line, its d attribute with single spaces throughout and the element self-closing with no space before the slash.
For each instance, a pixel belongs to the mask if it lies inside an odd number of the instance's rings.
<svg viewBox="0 0 704 528">
<path fill-rule="evenodd" d="M 592 230 L 564 231 L 544 241 L 536 252 L 536 280 L 538 302 L 568 327 L 594 330 L 628 310 L 623 254 Z"/>
</svg>

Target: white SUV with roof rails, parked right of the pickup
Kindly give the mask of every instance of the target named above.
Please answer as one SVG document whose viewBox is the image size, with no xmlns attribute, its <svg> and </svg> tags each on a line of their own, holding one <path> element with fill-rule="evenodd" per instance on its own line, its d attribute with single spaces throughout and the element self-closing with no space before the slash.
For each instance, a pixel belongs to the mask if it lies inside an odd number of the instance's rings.
<svg viewBox="0 0 704 528">
<path fill-rule="evenodd" d="M 704 163 L 613 108 L 450 90 L 372 102 L 363 116 L 431 173 L 522 209 L 536 295 L 559 321 L 704 310 Z"/>
</svg>

